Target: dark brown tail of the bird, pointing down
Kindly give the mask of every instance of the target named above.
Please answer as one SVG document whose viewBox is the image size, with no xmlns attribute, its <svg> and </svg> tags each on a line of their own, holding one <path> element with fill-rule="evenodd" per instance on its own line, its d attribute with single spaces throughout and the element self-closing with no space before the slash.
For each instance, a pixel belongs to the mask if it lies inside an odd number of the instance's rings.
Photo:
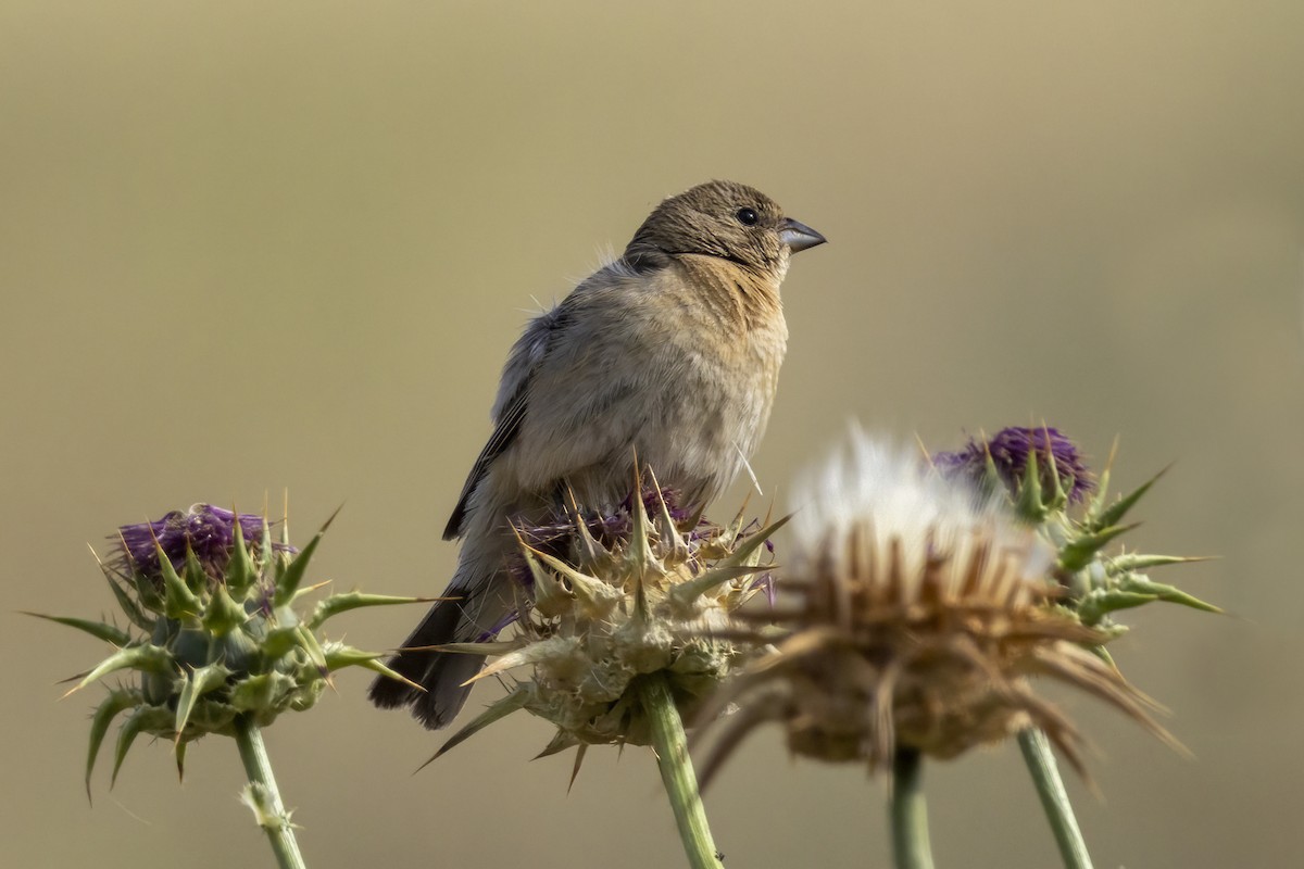
<svg viewBox="0 0 1304 869">
<path fill-rule="evenodd" d="M 425 691 L 398 679 L 377 676 L 366 694 L 370 701 L 381 709 L 411 706 L 412 715 L 429 730 L 451 722 L 471 693 L 471 685 L 463 683 L 480 672 L 484 655 L 419 648 L 456 642 L 458 627 L 464 624 L 460 602 L 441 601 L 430 607 L 399 653 L 386 662 L 391 670 Z"/>
</svg>

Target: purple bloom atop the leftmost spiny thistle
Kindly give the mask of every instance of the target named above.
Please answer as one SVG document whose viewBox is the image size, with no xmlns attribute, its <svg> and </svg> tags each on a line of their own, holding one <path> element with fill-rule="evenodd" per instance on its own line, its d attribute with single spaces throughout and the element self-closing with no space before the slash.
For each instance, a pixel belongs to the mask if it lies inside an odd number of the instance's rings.
<svg viewBox="0 0 1304 869">
<path fill-rule="evenodd" d="M 237 521 L 245 546 L 256 551 L 262 541 L 263 517 L 254 513 L 235 513 L 213 504 L 194 504 L 184 513 L 175 509 L 153 522 L 123 525 L 117 533 L 123 565 L 126 568 L 124 572 L 137 573 L 158 582 L 160 580 L 158 550 L 162 548 L 172 567 L 181 571 L 189 548 L 203 567 L 203 572 L 219 580 L 231 560 Z M 156 547 L 155 541 L 158 541 Z M 273 548 L 293 551 L 293 547 L 283 543 L 273 543 Z"/>
</svg>

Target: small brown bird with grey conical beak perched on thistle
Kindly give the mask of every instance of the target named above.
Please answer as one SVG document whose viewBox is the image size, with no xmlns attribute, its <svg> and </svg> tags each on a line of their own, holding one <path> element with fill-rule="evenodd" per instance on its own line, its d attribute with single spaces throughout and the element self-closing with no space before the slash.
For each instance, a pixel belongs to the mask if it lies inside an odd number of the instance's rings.
<svg viewBox="0 0 1304 869">
<path fill-rule="evenodd" d="M 788 326 L 789 254 L 824 236 L 742 184 L 711 181 L 659 205 L 619 259 L 526 327 L 493 405 L 493 434 L 443 532 L 462 555 L 445 597 L 403 649 L 493 634 L 514 607 L 512 521 L 569 500 L 601 509 L 631 486 L 634 455 L 683 506 L 734 478 L 769 418 Z M 412 706 L 429 728 L 466 702 L 484 658 L 400 650 L 377 706 Z"/>
</svg>

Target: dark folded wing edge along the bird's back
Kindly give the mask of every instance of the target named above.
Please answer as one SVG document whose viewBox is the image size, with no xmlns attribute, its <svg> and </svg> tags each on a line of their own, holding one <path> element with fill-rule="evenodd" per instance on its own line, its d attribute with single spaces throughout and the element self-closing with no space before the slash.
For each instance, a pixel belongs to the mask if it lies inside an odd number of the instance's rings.
<svg viewBox="0 0 1304 869">
<path fill-rule="evenodd" d="M 467 474 L 462 495 L 458 496 L 458 506 L 452 508 L 452 516 L 449 517 L 449 524 L 443 529 L 443 539 L 451 541 L 462 534 L 472 492 L 489 473 L 494 459 L 501 456 L 520 433 L 520 423 L 526 418 L 528 408 L 529 380 L 535 369 L 546 356 L 549 343 L 562 331 L 567 319 L 566 304 L 562 302 L 532 319 L 511 348 L 507 365 L 502 370 L 502 382 L 498 384 L 498 397 L 494 400 L 493 434 L 489 435 L 489 442 L 476 457 L 471 473 Z"/>
</svg>

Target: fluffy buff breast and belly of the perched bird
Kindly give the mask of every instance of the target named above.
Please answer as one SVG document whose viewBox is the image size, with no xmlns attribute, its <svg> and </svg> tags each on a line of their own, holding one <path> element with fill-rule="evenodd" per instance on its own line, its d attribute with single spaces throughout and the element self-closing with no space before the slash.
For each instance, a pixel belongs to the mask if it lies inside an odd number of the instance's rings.
<svg viewBox="0 0 1304 869">
<path fill-rule="evenodd" d="M 694 503 L 737 476 L 769 418 L 782 310 L 750 315 L 728 287 L 679 278 L 595 289 L 576 305 L 535 371 L 520 435 L 496 470 L 503 485 L 542 495 L 565 483 L 596 509 L 629 494 L 635 453 Z"/>
</svg>

